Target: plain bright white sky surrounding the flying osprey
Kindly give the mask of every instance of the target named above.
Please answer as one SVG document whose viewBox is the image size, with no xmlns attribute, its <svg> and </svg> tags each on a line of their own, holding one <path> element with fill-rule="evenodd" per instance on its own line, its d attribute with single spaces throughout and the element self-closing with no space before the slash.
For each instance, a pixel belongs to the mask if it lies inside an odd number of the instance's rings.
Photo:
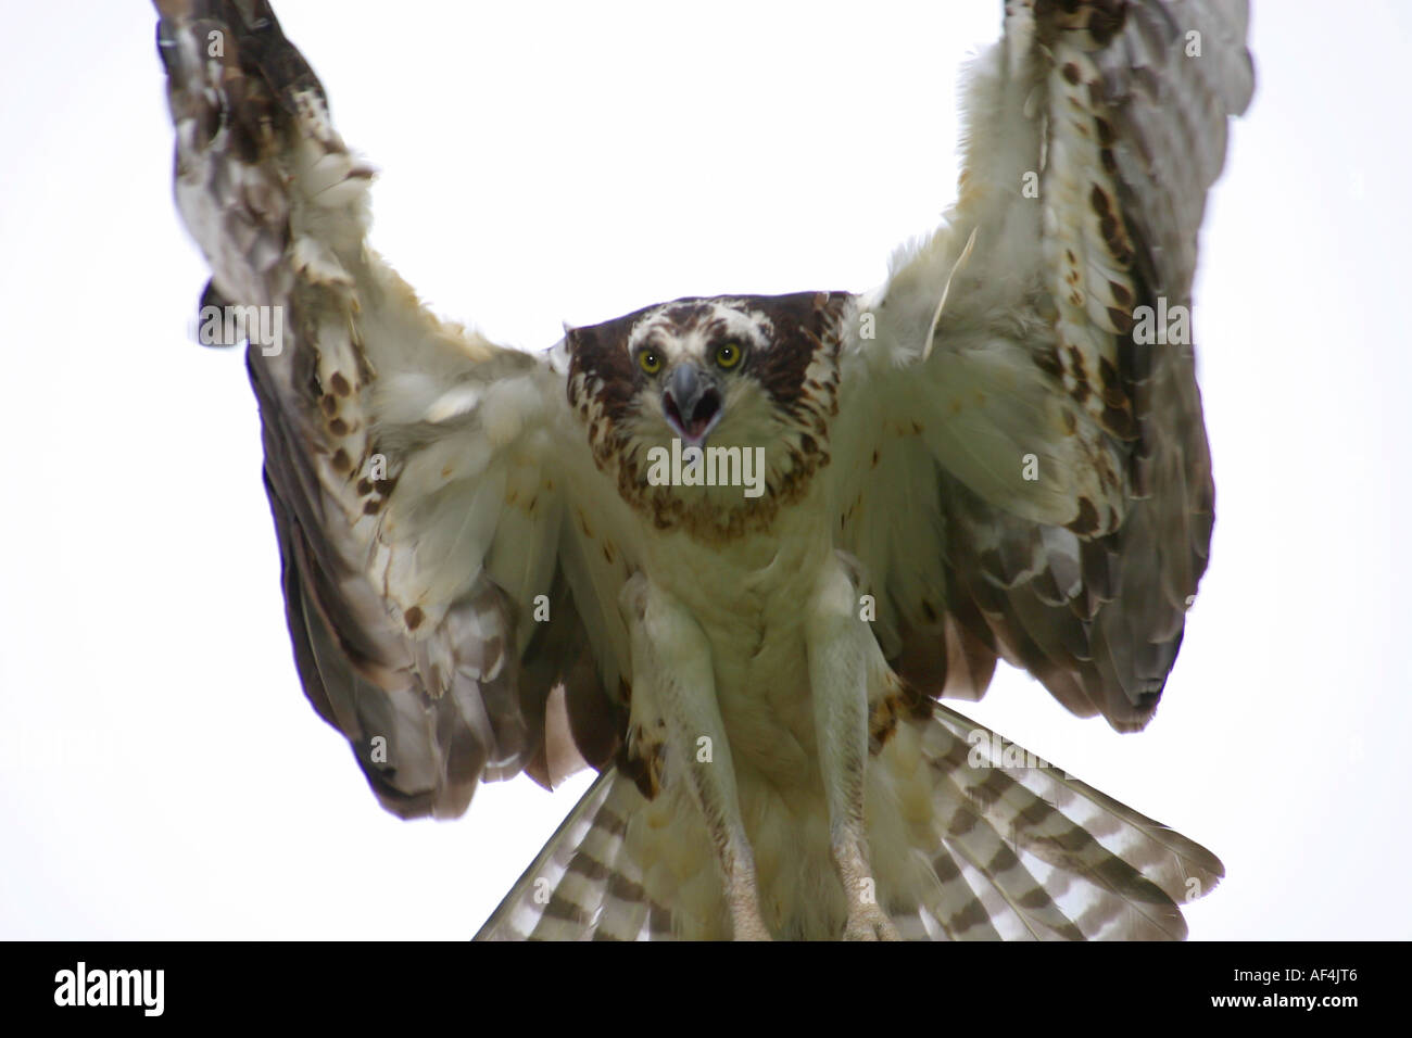
<svg viewBox="0 0 1412 1038">
<path fill-rule="evenodd" d="M 374 244 L 532 349 L 880 281 L 952 201 L 959 64 L 1000 25 L 998 0 L 278 13 L 384 171 Z M 1015 672 L 960 705 L 1211 847 L 1193 938 L 1412 936 L 1409 25 L 1254 14 L 1195 292 L 1216 542 L 1156 720 L 1118 736 Z M 151 10 L 16 4 L 0 78 L 0 936 L 470 936 L 585 784 L 377 806 L 299 691 L 241 357 L 185 338 L 206 273 Z"/>
</svg>

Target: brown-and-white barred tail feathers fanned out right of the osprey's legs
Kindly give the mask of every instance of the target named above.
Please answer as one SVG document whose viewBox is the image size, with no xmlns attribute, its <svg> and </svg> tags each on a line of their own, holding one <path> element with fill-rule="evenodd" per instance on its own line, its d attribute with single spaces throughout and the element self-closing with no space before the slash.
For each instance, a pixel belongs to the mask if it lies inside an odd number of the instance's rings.
<svg viewBox="0 0 1412 1038">
<path fill-rule="evenodd" d="M 912 733 L 932 778 L 939 853 L 935 888 L 898 908 L 931 932 L 1183 939 L 1180 904 L 1224 876 L 1200 845 L 955 710 L 936 706 Z"/>
</svg>

